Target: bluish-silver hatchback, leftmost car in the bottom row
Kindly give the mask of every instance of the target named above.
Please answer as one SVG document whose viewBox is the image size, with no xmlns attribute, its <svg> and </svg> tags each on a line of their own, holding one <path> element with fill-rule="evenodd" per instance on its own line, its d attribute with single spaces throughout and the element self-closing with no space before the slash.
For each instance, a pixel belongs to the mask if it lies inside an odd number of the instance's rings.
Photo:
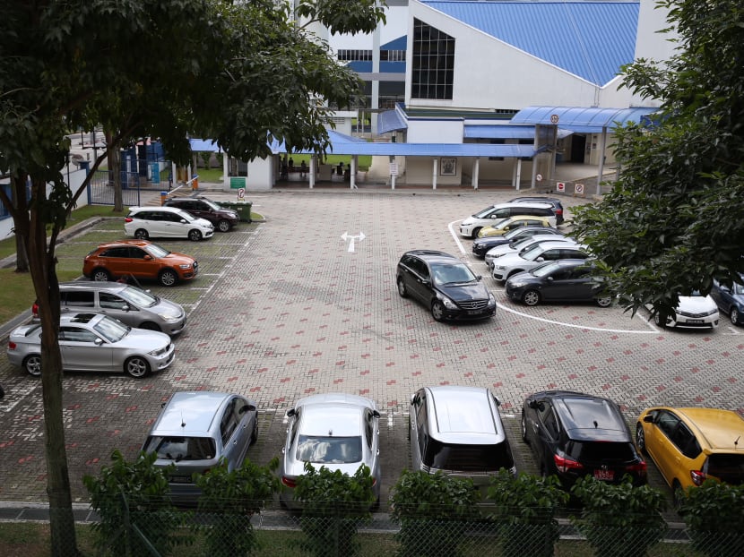
<svg viewBox="0 0 744 557">
<path fill-rule="evenodd" d="M 175 465 L 169 475 L 172 501 L 195 503 L 201 492 L 194 475 L 223 458 L 229 471 L 241 467 L 248 447 L 258 438 L 257 417 L 255 402 L 238 394 L 174 393 L 143 444 L 144 452 L 158 454 L 156 467 Z"/>
</svg>

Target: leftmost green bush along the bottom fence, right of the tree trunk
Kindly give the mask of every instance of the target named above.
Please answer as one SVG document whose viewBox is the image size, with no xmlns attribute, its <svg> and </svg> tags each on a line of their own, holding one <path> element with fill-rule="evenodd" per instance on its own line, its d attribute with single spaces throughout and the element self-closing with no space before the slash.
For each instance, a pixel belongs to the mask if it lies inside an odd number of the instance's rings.
<svg viewBox="0 0 744 557">
<path fill-rule="evenodd" d="M 193 538 L 178 532 L 186 515 L 170 502 L 168 469 L 154 466 L 157 454 L 145 454 L 127 462 L 118 450 L 111 465 L 100 469 L 99 477 L 83 476 L 91 493 L 91 507 L 100 516 L 95 528 L 101 550 L 117 548 L 118 555 L 169 555 Z"/>
</svg>

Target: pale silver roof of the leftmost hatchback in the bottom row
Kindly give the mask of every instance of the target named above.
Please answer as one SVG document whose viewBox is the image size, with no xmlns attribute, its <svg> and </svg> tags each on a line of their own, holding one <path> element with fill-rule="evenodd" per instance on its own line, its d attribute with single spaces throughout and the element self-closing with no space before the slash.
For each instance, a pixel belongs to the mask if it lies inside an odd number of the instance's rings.
<svg viewBox="0 0 744 557">
<path fill-rule="evenodd" d="M 152 425 L 151 435 L 203 435 L 219 427 L 220 409 L 234 395 L 214 391 L 179 391 L 173 394 Z"/>
</svg>

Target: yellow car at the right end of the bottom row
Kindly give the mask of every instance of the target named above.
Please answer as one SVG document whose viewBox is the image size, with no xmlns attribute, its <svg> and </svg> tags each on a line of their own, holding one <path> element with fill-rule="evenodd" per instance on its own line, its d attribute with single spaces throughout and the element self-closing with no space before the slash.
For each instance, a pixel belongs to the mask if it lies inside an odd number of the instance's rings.
<svg viewBox="0 0 744 557">
<path fill-rule="evenodd" d="M 719 408 L 654 407 L 638 416 L 636 445 L 678 488 L 712 478 L 744 482 L 744 418 Z"/>
</svg>

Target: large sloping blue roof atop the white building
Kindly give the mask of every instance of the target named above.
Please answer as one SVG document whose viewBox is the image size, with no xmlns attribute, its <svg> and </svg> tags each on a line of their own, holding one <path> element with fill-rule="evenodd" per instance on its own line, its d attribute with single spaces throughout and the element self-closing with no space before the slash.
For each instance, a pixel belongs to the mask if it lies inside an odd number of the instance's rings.
<svg viewBox="0 0 744 557">
<path fill-rule="evenodd" d="M 634 60 L 637 2 L 423 0 L 422 4 L 595 85 L 607 84 L 620 66 Z"/>
</svg>

